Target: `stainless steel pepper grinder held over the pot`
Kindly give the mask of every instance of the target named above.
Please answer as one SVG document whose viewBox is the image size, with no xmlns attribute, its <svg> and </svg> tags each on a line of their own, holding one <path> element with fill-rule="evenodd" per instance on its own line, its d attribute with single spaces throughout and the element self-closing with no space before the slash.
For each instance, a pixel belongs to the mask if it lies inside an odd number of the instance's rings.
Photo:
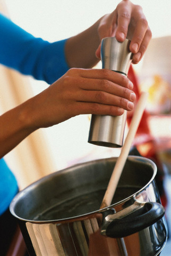
<svg viewBox="0 0 171 256">
<path fill-rule="evenodd" d="M 132 61 L 130 41 L 118 42 L 115 37 L 101 41 L 102 68 L 127 76 Z M 122 116 L 92 115 L 88 142 L 111 148 L 123 146 L 127 111 Z"/>
</svg>

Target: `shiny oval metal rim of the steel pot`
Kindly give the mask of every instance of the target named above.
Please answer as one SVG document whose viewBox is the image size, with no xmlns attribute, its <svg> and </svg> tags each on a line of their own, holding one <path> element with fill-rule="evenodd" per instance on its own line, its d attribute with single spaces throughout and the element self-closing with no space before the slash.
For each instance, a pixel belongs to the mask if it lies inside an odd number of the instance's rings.
<svg viewBox="0 0 171 256">
<path fill-rule="evenodd" d="M 95 214 L 98 214 L 98 213 L 101 213 L 101 212 L 104 212 L 106 210 L 109 210 L 109 209 L 112 209 L 114 208 L 114 206 L 117 206 L 118 204 L 122 204 L 126 201 L 128 201 L 129 199 L 131 198 L 134 198 L 135 196 L 137 196 L 138 194 L 141 193 L 141 191 L 143 191 L 144 189 L 146 189 L 150 183 L 153 181 L 153 179 L 155 178 L 156 176 L 156 173 L 157 173 L 157 166 L 156 164 L 149 158 L 146 158 L 146 157 L 142 157 L 142 156 L 128 156 L 127 157 L 127 160 L 130 160 L 131 159 L 134 159 L 136 161 L 142 161 L 142 162 L 146 162 L 148 163 L 149 165 L 151 165 L 152 169 L 153 169 L 153 175 L 151 177 L 151 179 L 148 181 L 148 183 L 142 187 L 141 189 L 139 189 L 138 191 L 136 191 L 136 193 L 130 195 L 129 197 L 126 197 L 124 199 L 122 199 L 121 201 L 118 201 L 117 203 L 114 203 L 110 206 L 107 206 L 107 207 L 104 207 L 102 209 L 98 209 L 96 211 L 92 211 L 92 212 L 89 212 L 89 213 L 85 213 L 85 214 L 81 214 L 81 215 L 76 215 L 76 216 L 73 216 L 73 217 L 69 217 L 69 218 L 63 218 L 63 219 L 57 219 L 57 220 L 31 220 L 31 219 L 24 219 L 24 218 L 21 218 L 19 217 L 18 214 L 15 213 L 15 205 L 18 201 L 20 201 L 20 198 L 22 198 L 22 196 L 25 194 L 25 193 L 29 193 L 29 191 L 33 190 L 34 188 L 36 188 L 37 186 L 39 186 L 40 183 L 44 182 L 45 180 L 47 179 L 50 179 L 54 176 L 56 176 L 56 173 L 60 174 L 60 173 L 67 173 L 67 172 L 70 172 L 72 171 L 73 169 L 75 169 L 75 167 L 78 167 L 78 166 L 84 166 L 84 165 L 89 165 L 89 164 L 93 164 L 93 163 L 98 163 L 98 162 L 101 162 L 101 161 L 108 161 L 108 160 L 115 160 L 117 159 L 118 157 L 109 157 L 109 158 L 100 158 L 100 159 L 95 159 L 95 160 L 92 160 L 92 161 L 88 161 L 88 162 L 84 162 L 84 163 L 79 163 L 79 164 L 75 164 L 75 165 L 72 165 L 70 167 L 67 167 L 65 169 L 62 169 L 62 170 L 59 170 L 59 171 L 56 171 L 56 172 L 53 172 L 53 173 L 50 173 L 48 175 L 46 175 L 45 177 L 42 177 L 40 178 L 39 180 L 31 183 L 29 186 L 25 187 L 23 190 L 21 190 L 12 200 L 11 204 L 10 204 L 10 212 L 11 214 L 19 219 L 19 220 L 22 220 L 22 221 L 25 221 L 25 222 L 31 222 L 31 223 L 38 223 L 38 224 L 45 224 L 45 223 L 62 223 L 62 222 L 70 222 L 70 221 L 75 221 L 75 220 L 81 220 L 82 218 L 83 219 L 86 219 L 86 218 L 89 218 L 90 215 L 95 215 Z"/>
</svg>

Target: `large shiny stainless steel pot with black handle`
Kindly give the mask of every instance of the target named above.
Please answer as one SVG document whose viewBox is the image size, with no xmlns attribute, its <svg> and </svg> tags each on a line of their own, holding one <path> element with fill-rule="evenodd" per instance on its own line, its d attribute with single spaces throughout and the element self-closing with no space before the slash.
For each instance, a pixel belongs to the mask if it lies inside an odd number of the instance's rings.
<svg viewBox="0 0 171 256">
<path fill-rule="evenodd" d="M 129 156 L 110 207 L 99 210 L 117 158 L 55 172 L 13 199 L 29 254 L 154 256 L 167 241 L 156 165 Z"/>
</svg>

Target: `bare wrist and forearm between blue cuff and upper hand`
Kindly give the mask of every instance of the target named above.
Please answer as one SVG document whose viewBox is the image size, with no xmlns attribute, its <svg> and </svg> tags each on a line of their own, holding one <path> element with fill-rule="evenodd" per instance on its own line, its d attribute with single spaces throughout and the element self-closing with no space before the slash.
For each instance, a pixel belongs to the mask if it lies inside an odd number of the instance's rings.
<svg viewBox="0 0 171 256">
<path fill-rule="evenodd" d="M 101 19 L 82 33 L 69 38 L 65 45 L 65 56 L 70 68 L 92 68 L 99 59 L 96 50 L 100 44 L 98 26 Z"/>
</svg>

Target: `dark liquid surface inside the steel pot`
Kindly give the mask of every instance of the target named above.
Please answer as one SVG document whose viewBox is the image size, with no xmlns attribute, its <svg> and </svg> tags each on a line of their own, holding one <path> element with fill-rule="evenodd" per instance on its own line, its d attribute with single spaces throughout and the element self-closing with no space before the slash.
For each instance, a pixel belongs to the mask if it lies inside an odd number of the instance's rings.
<svg viewBox="0 0 171 256">
<path fill-rule="evenodd" d="M 118 187 L 112 204 L 135 194 L 140 187 Z M 105 189 L 93 191 L 93 193 L 80 195 L 65 202 L 53 204 L 46 211 L 39 213 L 34 220 L 48 221 L 72 218 L 79 215 L 91 213 L 100 209 Z"/>
</svg>

